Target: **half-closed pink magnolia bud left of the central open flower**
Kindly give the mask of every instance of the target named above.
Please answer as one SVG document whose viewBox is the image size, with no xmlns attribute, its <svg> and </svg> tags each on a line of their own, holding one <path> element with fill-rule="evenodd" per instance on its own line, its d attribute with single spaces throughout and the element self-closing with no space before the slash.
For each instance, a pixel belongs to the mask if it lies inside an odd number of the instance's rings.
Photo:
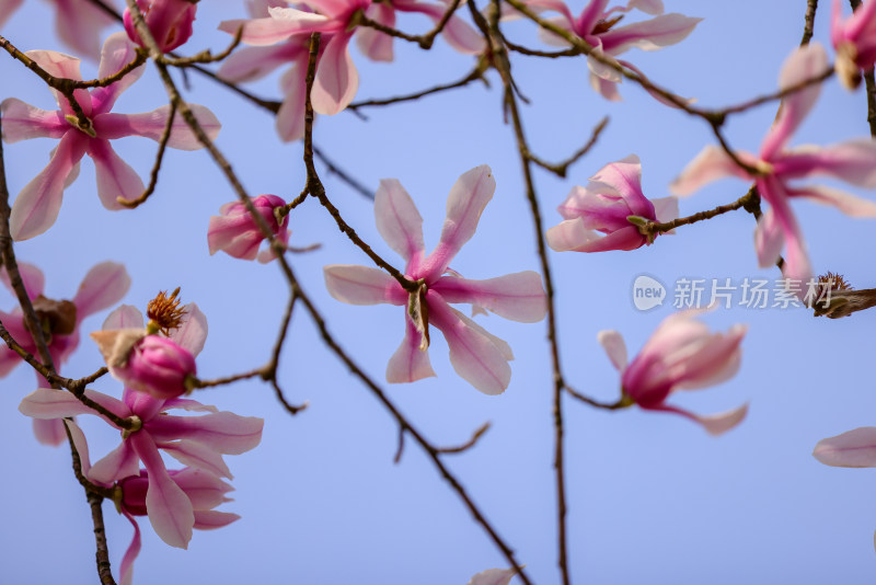
<svg viewBox="0 0 876 585">
<path fill-rule="evenodd" d="M 274 236 L 284 244 L 288 244 L 289 216 L 285 216 L 283 223 L 278 223 L 277 216 L 274 214 L 275 209 L 285 207 L 286 202 L 276 195 L 260 195 L 252 202 L 258 215 L 270 226 Z M 255 225 L 245 205 L 241 202 L 227 203 L 219 209 L 219 213 L 221 215 L 210 217 L 207 228 L 207 244 L 210 246 L 210 255 L 221 250 L 229 256 L 243 260 L 255 260 L 256 256 L 260 262 L 274 260 L 274 250 L 258 252 L 258 246 L 265 236 Z"/>
</svg>

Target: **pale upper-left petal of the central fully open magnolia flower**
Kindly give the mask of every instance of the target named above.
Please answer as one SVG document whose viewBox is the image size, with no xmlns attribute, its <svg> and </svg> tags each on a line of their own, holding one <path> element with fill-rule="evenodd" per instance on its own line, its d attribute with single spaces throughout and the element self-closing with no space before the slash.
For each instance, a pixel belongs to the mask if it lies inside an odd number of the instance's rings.
<svg viewBox="0 0 876 585">
<path fill-rule="evenodd" d="M 374 194 L 374 221 L 383 240 L 408 264 L 423 255 L 423 217 L 396 179 L 380 182 Z"/>
</svg>

